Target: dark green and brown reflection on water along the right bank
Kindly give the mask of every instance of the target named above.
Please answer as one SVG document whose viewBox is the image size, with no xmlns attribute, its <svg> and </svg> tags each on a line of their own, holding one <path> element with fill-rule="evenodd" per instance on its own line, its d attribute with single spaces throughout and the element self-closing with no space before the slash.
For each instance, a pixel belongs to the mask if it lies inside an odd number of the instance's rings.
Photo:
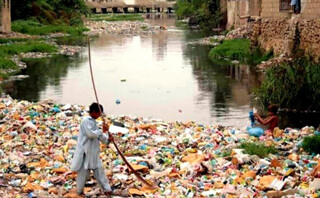
<svg viewBox="0 0 320 198">
<path fill-rule="evenodd" d="M 210 49 L 210 46 L 189 44 L 184 51 L 185 58 L 190 59 L 192 73 L 201 92 L 197 96 L 197 105 L 200 108 L 206 106 L 209 100 L 212 117 L 217 120 L 224 118 L 224 124 L 240 123 L 239 120 L 244 123 L 247 119 L 246 110 L 251 106 L 250 93 L 260 85 L 261 74 L 246 65 L 218 60 L 212 62 L 207 57 Z"/>
</svg>

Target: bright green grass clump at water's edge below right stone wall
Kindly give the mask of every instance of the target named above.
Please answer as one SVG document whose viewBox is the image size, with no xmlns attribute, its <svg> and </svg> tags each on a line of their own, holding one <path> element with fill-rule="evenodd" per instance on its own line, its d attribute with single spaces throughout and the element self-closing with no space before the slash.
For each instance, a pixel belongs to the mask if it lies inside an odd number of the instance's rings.
<svg viewBox="0 0 320 198">
<path fill-rule="evenodd" d="M 250 41 L 248 39 L 224 40 L 221 45 L 213 48 L 210 59 L 229 59 L 245 61 L 250 56 Z"/>
</svg>

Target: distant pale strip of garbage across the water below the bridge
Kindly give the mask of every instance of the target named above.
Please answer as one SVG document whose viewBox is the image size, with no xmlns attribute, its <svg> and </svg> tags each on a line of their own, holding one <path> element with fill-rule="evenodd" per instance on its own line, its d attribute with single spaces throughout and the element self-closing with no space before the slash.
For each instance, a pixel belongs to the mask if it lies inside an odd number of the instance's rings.
<svg viewBox="0 0 320 198">
<path fill-rule="evenodd" d="M 163 26 L 152 26 L 140 21 L 87 21 L 86 27 L 90 29 L 90 31 L 84 33 L 87 35 L 112 34 L 122 36 L 158 34 L 166 29 Z"/>
</svg>

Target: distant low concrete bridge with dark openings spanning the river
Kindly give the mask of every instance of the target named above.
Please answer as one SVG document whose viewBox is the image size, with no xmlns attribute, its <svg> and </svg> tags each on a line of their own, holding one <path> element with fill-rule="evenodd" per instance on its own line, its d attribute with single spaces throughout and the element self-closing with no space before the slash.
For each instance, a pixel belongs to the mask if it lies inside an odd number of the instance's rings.
<svg viewBox="0 0 320 198">
<path fill-rule="evenodd" d="M 128 13 L 128 12 L 168 12 L 171 13 L 175 1 L 166 0 L 85 0 L 95 13 Z"/>
</svg>

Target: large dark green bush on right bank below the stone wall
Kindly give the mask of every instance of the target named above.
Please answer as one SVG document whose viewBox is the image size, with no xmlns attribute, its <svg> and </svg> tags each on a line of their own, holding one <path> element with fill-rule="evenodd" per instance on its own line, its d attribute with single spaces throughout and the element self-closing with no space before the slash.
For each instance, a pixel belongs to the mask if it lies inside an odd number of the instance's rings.
<svg viewBox="0 0 320 198">
<path fill-rule="evenodd" d="M 254 95 L 257 104 L 264 108 L 273 103 L 280 108 L 320 111 L 319 79 L 320 64 L 301 57 L 267 69 L 266 77 Z"/>
</svg>

